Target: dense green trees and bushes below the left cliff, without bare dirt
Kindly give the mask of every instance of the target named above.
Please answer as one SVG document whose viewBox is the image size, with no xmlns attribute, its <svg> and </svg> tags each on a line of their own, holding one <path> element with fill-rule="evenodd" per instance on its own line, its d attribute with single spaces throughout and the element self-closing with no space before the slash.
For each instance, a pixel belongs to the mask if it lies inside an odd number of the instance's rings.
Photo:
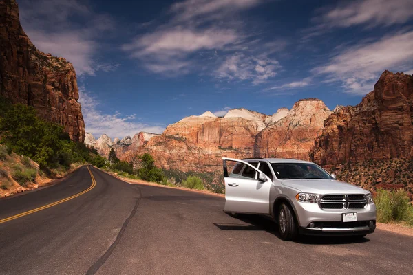
<svg viewBox="0 0 413 275">
<path fill-rule="evenodd" d="M 32 159 L 42 170 L 68 170 L 73 163 L 95 163 L 100 159 L 85 144 L 70 140 L 61 125 L 41 120 L 34 108 L 11 104 L 4 98 L 0 98 L 0 133 L 0 144 L 5 146 L 0 158 L 5 151 L 12 151 L 27 157 L 23 162 Z"/>
</svg>

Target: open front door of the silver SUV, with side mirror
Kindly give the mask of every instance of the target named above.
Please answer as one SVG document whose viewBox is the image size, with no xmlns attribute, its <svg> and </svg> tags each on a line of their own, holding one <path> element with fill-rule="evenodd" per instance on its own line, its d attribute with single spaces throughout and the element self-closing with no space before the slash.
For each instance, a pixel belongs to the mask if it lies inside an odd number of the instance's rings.
<svg viewBox="0 0 413 275">
<path fill-rule="evenodd" d="M 270 213 L 271 179 L 253 166 L 240 159 L 222 157 L 225 181 L 224 212 Z M 231 173 L 226 162 L 235 162 Z"/>
</svg>

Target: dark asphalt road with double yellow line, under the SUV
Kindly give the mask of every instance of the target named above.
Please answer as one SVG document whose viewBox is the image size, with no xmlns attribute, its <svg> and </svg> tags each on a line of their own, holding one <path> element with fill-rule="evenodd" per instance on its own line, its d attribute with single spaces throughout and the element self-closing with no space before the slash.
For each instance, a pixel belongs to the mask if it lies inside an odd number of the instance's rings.
<svg viewBox="0 0 413 275">
<path fill-rule="evenodd" d="M 284 242 L 260 217 L 234 219 L 224 199 L 127 184 L 91 168 L 85 194 L 0 223 L 0 274 L 413 274 L 413 238 L 377 230 Z M 87 190 L 87 167 L 0 200 L 0 220 Z"/>
</svg>

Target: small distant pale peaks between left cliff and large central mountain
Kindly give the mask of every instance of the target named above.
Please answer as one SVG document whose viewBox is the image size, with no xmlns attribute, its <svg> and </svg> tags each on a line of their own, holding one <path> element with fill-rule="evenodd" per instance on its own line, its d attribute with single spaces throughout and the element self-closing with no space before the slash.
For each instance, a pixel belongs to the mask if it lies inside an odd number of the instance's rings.
<svg viewBox="0 0 413 275">
<path fill-rule="evenodd" d="M 97 140 L 92 133 L 85 134 L 85 144 L 89 148 L 95 148 L 100 155 L 107 157 L 110 149 L 114 148 L 116 155 L 120 159 L 131 159 L 128 155 L 136 155 L 138 148 L 147 144 L 147 142 L 157 134 L 140 132 L 133 137 L 126 136 L 122 140 L 115 137 L 114 141 L 108 135 L 101 135 Z M 129 159 L 129 161 L 130 161 Z"/>
</svg>

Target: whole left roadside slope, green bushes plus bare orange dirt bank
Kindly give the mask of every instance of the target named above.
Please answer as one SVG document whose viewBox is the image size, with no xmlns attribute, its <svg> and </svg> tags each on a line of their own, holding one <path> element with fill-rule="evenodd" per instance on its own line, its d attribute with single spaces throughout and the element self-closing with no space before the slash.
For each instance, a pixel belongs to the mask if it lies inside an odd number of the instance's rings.
<svg viewBox="0 0 413 275">
<path fill-rule="evenodd" d="M 36 110 L 0 97 L 0 197 L 37 188 L 81 164 L 104 164 L 83 143 L 73 142 L 59 124 Z"/>
</svg>

